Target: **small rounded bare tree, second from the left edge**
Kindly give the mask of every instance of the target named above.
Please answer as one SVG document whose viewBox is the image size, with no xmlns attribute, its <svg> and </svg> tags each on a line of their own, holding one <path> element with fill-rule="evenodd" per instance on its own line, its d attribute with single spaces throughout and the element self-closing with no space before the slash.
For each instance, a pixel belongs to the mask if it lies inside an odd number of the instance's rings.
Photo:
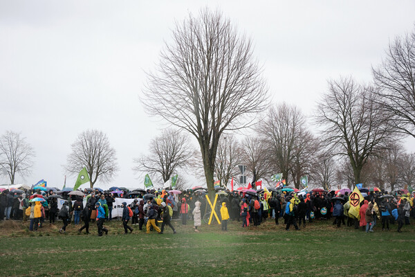
<svg viewBox="0 0 415 277">
<path fill-rule="evenodd" d="M 77 175 L 85 167 L 91 188 L 98 179 L 110 181 L 118 171 L 116 150 L 111 148 L 107 135 L 101 131 L 82 132 L 71 148 L 66 170 Z"/>
</svg>

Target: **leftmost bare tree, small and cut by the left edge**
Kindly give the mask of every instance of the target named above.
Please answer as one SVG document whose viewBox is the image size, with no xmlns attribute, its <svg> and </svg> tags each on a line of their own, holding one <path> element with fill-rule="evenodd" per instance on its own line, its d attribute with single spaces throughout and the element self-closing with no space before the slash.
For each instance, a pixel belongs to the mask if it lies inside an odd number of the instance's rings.
<svg viewBox="0 0 415 277">
<path fill-rule="evenodd" d="M 35 152 L 19 133 L 7 131 L 0 138 L 0 173 L 5 172 L 10 184 L 15 184 L 16 175 L 27 176 L 33 167 Z"/>
</svg>

